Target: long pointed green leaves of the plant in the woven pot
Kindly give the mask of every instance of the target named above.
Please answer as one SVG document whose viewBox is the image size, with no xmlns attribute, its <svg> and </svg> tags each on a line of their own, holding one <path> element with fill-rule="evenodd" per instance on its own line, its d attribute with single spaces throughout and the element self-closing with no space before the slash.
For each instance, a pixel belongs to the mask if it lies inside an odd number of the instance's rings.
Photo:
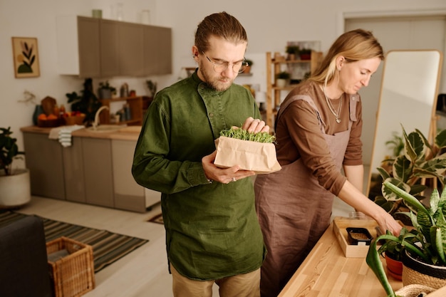
<svg viewBox="0 0 446 297">
<path fill-rule="evenodd" d="M 396 296 L 393 291 L 377 250 L 378 241 L 385 239 L 387 242 L 394 241 L 411 256 L 414 256 L 426 264 L 446 266 L 446 191 L 441 196 L 437 189 L 433 189 L 430 195 L 430 207 L 426 208 L 416 197 L 406 192 L 404 189 L 393 184 L 394 181 L 387 179 L 383 182 L 383 187 L 393 192 L 405 202 L 410 204 L 415 212 L 406 213 L 412 220 L 415 229 L 407 231 L 403 229 L 400 236 L 393 236 L 390 232 L 378 236 L 368 249 L 365 258 L 370 269 L 378 277 L 388 296 Z"/>
</svg>

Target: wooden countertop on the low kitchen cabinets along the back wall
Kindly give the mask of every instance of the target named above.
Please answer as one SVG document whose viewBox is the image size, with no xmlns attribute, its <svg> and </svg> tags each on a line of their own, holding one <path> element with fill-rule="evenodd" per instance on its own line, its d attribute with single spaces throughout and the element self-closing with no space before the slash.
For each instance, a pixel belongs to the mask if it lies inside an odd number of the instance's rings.
<svg viewBox="0 0 446 297">
<path fill-rule="evenodd" d="M 38 127 L 38 126 L 28 126 L 21 127 L 22 132 L 33 132 L 33 133 L 41 133 L 48 134 L 51 132 L 51 127 Z M 116 130 L 113 132 L 91 132 L 87 128 L 79 129 L 73 131 L 71 135 L 73 137 L 90 137 L 90 138 L 102 138 L 102 139 L 114 139 L 114 140 L 138 140 L 140 135 L 141 126 L 127 126 L 123 127 L 120 130 Z"/>
</svg>

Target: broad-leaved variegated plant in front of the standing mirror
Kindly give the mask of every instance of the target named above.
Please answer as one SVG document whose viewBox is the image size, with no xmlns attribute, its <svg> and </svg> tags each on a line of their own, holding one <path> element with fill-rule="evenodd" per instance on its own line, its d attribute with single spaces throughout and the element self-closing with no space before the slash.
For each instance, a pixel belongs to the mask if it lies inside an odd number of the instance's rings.
<svg viewBox="0 0 446 297">
<path fill-rule="evenodd" d="M 422 192 L 427 188 L 425 184 L 420 183 L 423 177 L 437 179 L 444 187 L 446 154 L 443 149 L 446 147 L 446 130 L 438 132 L 434 142 L 430 144 L 420 130 L 415 129 L 407 134 L 403 127 L 403 143 L 404 148 L 400 155 L 395 159 L 385 160 L 392 165 L 391 172 L 383 167 L 377 168 L 383 181 L 390 180 L 419 200 L 425 198 Z M 410 208 L 410 204 L 384 186 L 381 187 L 381 192 L 383 196 L 375 197 L 375 203 L 390 214 L 399 212 L 401 207 Z"/>
</svg>

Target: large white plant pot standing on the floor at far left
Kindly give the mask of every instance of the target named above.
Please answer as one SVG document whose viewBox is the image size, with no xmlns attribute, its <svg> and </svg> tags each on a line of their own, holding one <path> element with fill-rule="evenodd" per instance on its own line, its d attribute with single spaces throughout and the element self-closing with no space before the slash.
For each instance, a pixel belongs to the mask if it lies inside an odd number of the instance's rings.
<svg viewBox="0 0 446 297">
<path fill-rule="evenodd" d="M 29 170 L 14 170 L 12 175 L 0 172 L 0 208 L 14 208 L 31 201 Z"/>
</svg>

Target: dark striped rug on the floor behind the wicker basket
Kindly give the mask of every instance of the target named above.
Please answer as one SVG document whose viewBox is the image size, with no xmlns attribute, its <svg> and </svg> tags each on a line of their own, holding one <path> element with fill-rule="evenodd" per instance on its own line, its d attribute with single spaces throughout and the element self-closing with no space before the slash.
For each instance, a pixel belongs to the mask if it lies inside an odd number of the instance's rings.
<svg viewBox="0 0 446 297">
<path fill-rule="evenodd" d="M 0 227 L 26 217 L 11 211 L 0 211 Z M 38 217 L 38 216 L 36 216 Z M 93 261 L 95 272 L 122 258 L 126 254 L 148 242 L 131 236 L 112 233 L 106 230 L 92 229 L 39 217 L 43 221 L 46 241 L 58 239 L 61 236 L 80 241 L 93 246 Z"/>
</svg>

